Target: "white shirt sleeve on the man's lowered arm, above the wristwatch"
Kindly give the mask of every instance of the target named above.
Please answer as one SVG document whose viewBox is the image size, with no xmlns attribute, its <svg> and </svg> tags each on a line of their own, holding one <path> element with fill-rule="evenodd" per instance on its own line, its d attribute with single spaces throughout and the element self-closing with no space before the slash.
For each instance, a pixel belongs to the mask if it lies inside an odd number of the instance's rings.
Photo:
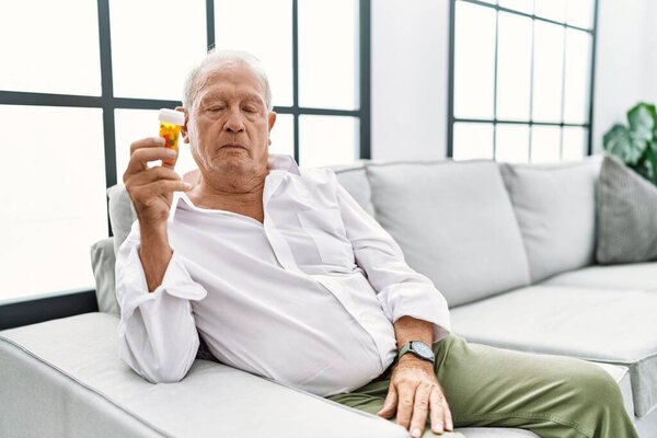
<svg viewBox="0 0 657 438">
<path fill-rule="evenodd" d="M 434 342 L 451 331 L 445 297 L 426 276 L 413 270 L 392 237 L 337 185 L 342 218 L 356 263 L 377 292 L 385 316 L 413 316 L 434 324 Z"/>
</svg>

